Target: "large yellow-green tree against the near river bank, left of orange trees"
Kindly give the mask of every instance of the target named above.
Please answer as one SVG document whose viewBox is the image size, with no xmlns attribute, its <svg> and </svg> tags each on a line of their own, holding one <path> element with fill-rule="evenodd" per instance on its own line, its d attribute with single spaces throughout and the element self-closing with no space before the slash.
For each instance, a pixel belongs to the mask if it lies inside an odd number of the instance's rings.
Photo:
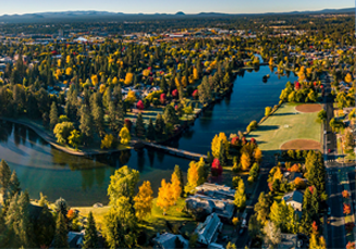
<svg viewBox="0 0 356 249">
<path fill-rule="evenodd" d="M 139 179 L 139 173 L 127 166 L 122 166 L 110 176 L 108 196 L 113 204 L 120 197 L 133 198 L 135 188 Z"/>
</svg>

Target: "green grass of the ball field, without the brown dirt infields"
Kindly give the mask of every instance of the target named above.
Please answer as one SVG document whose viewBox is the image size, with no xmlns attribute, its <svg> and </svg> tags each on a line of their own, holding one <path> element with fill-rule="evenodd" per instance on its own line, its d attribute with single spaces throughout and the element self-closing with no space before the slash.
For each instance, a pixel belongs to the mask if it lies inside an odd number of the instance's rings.
<svg viewBox="0 0 356 249">
<path fill-rule="evenodd" d="M 293 139 L 312 139 L 320 142 L 321 124 L 316 122 L 318 112 L 297 112 L 295 107 L 296 104 L 283 104 L 248 137 L 254 137 L 261 150 L 280 150 L 284 142 Z"/>
</svg>

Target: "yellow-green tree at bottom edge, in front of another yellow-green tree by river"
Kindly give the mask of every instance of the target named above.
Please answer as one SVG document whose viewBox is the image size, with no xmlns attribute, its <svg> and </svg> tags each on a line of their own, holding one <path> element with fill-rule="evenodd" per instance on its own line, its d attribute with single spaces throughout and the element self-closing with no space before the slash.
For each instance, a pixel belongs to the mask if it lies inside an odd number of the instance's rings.
<svg viewBox="0 0 356 249">
<path fill-rule="evenodd" d="M 138 227 L 130 199 L 121 196 L 110 203 L 111 208 L 103 217 L 103 237 L 111 249 L 134 248 L 137 245 Z"/>
</svg>

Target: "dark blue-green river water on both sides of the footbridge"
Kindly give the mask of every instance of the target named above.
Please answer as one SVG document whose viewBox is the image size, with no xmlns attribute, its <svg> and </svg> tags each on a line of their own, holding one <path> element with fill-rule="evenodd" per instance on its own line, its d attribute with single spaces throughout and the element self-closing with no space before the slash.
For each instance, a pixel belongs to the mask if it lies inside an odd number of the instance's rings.
<svg viewBox="0 0 356 249">
<path fill-rule="evenodd" d="M 271 77 L 265 84 L 262 76 L 266 74 Z M 170 146 L 207 153 L 217 133 L 225 132 L 229 136 L 245 130 L 250 121 L 259 121 L 266 107 L 278 103 L 287 80 L 294 82 L 296 77 L 291 74 L 289 78 L 279 78 L 268 66 L 261 66 L 258 72 L 246 71 L 235 79 L 233 92 L 228 98 L 207 110 L 189 132 Z M 120 166 L 138 170 L 140 179 L 150 180 L 157 195 L 161 179 L 170 178 L 175 164 L 186 172 L 189 163 L 146 149 L 91 159 L 74 157 L 52 148 L 30 129 L 11 123 L 0 123 L 0 159 L 16 171 L 22 188 L 27 189 L 32 198 L 38 199 L 41 191 L 50 201 L 62 197 L 72 207 L 107 203 L 110 175 Z"/>
</svg>

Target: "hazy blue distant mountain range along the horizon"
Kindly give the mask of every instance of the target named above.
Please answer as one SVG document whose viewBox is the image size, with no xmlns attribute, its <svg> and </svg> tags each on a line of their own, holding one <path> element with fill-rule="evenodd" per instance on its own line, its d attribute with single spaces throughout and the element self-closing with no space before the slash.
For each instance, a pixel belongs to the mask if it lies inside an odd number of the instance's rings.
<svg viewBox="0 0 356 249">
<path fill-rule="evenodd" d="M 219 12 L 200 12 L 197 14 L 185 14 L 180 11 L 175 14 L 156 13 L 156 14 L 127 14 L 123 12 L 109 12 L 109 11 L 63 11 L 63 12 L 42 12 L 29 14 L 13 14 L 0 16 L 2 23 L 20 23 L 20 22 L 49 22 L 49 21 L 69 21 L 69 20 L 105 20 L 105 18 L 152 18 L 152 17 L 218 17 L 218 16 L 236 16 L 236 15 L 271 15 L 271 14 L 327 14 L 327 13 L 354 13 L 354 8 L 347 9 L 324 9 L 319 11 L 292 11 L 292 12 L 269 12 L 256 14 L 228 14 Z"/>
</svg>

